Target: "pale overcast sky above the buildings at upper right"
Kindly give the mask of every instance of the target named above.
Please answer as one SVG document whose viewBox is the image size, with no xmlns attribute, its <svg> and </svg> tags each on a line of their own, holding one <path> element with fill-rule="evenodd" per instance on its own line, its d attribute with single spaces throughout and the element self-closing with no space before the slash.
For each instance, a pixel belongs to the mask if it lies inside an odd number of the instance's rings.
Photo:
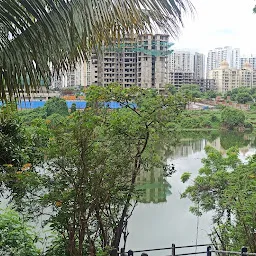
<svg viewBox="0 0 256 256">
<path fill-rule="evenodd" d="M 254 0 L 191 0 L 195 17 L 184 18 L 175 49 L 202 53 L 216 47 L 240 48 L 241 54 L 256 54 Z"/>
</svg>

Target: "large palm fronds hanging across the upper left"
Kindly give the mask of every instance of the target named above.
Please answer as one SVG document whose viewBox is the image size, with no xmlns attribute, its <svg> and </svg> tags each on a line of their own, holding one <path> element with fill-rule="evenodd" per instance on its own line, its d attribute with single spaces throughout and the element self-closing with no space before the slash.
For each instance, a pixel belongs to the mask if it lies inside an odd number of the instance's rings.
<svg viewBox="0 0 256 256">
<path fill-rule="evenodd" d="M 29 92 L 102 42 L 158 28 L 177 36 L 190 0 L 0 1 L 0 100 Z"/>
</svg>

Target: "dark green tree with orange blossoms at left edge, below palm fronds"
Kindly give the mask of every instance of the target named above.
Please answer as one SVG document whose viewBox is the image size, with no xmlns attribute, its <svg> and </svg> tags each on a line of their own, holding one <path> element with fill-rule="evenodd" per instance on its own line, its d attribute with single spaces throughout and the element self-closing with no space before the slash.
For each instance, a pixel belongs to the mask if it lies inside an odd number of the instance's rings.
<svg viewBox="0 0 256 256">
<path fill-rule="evenodd" d="M 13 105 L 0 108 L 0 191 L 10 192 L 19 209 L 29 177 L 37 184 L 34 170 L 45 157 L 42 149 L 48 140 L 45 120 L 35 119 L 26 129 Z"/>
</svg>

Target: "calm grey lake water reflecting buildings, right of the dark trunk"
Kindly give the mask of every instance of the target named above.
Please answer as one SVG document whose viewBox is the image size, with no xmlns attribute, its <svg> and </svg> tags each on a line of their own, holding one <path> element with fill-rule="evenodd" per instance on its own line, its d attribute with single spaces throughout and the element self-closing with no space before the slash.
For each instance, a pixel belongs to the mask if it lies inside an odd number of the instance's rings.
<svg viewBox="0 0 256 256">
<path fill-rule="evenodd" d="M 172 243 L 176 246 L 210 243 L 208 233 L 211 231 L 211 214 L 197 218 L 189 212 L 192 205 L 190 200 L 180 199 L 180 194 L 189 184 L 183 184 L 180 177 L 184 172 L 192 173 L 192 178 L 198 174 L 202 167 L 201 159 L 206 156 L 206 145 L 215 147 L 222 154 L 231 146 L 239 146 L 242 159 L 256 153 L 255 137 L 252 135 L 208 134 L 207 139 L 183 139 L 167 160 L 168 163 L 174 163 L 177 170 L 172 177 L 164 178 L 161 170 L 142 174 L 145 189 L 141 203 L 129 222 L 130 235 L 126 249 L 170 247 Z M 151 252 L 149 256 L 170 254 L 171 251 Z"/>
</svg>

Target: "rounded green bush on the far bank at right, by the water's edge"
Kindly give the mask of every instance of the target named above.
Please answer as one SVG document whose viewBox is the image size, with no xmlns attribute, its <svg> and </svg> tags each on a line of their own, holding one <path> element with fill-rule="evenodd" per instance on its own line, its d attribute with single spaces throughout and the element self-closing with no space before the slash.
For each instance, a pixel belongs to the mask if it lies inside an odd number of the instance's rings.
<svg viewBox="0 0 256 256">
<path fill-rule="evenodd" d="M 244 121 L 245 114 L 242 110 L 226 107 L 221 111 L 221 123 L 227 129 L 243 126 Z"/>
</svg>

